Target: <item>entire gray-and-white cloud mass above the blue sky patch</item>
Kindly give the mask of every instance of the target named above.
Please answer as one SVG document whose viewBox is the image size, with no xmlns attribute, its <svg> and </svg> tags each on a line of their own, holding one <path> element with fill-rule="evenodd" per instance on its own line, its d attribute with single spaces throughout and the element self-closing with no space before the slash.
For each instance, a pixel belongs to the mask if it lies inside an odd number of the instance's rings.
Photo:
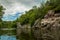
<svg viewBox="0 0 60 40">
<path fill-rule="evenodd" d="M 0 4 L 6 8 L 6 14 L 13 14 L 15 11 L 28 10 L 34 5 L 40 5 L 40 2 L 41 0 L 0 0 Z"/>
</svg>

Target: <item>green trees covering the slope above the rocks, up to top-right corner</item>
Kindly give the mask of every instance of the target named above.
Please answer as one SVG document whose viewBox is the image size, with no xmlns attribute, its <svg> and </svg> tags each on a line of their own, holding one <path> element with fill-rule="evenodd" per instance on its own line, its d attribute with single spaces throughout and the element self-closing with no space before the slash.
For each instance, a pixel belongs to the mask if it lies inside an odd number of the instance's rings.
<svg viewBox="0 0 60 40">
<path fill-rule="evenodd" d="M 26 11 L 17 21 L 22 25 L 30 24 L 32 26 L 37 19 L 44 18 L 44 15 L 49 10 L 54 10 L 56 12 L 60 10 L 60 0 L 49 0 L 44 4 L 42 3 L 40 7 L 33 6 L 32 9 Z"/>
</svg>

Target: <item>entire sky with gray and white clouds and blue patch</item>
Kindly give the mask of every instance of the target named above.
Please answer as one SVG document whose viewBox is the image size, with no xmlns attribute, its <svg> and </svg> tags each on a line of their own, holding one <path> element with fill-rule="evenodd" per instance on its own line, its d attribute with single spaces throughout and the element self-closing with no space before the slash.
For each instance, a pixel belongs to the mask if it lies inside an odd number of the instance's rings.
<svg viewBox="0 0 60 40">
<path fill-rule="evenodd" d="M 6 8 L 2 20 L 15 20 L 21 13 L 31 9 L 32 6 L 39 6 L 42 1 L 43 0 L 0 0 L 0 4 Z"/>
</svg>

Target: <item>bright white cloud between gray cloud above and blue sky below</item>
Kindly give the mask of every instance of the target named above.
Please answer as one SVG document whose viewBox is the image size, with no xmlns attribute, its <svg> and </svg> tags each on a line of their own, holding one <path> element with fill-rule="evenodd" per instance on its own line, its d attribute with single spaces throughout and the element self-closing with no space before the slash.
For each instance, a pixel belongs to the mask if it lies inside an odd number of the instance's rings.
<svg viewBox="0 0 60 40">
<path fill-rule="evenodd" d="M 28 10 L 29 8 L 22 4 L 19 3 L 14 3 L 12 4 L 12 7 L 7 8 L 7 10 L 5 11 L 5 14 L 15 14 L 16 12 L 24 12 L 26 10 Z"/>
</svg>

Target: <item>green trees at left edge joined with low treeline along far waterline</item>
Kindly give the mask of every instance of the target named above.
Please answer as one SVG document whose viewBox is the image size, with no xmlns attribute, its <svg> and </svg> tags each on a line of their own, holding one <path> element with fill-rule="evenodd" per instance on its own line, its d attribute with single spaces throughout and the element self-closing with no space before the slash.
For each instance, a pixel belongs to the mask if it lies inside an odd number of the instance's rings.
<svg viewBox="0 0 60 40">
<path fill-rule="evenodd" d="M 13 22 L 11 22 L 11 21 L 2 21 L 1 20 L 1 18 L 2 18 L 2 16 L 3 16 L 3 14 L 4 14 L 4 10 L 5 10 L 5 8 L 3 8 L 3 6 L 2 5 L 0 5 L 0 28 L 16 28 L 16 21 L 13 21 Z"/>
</svg>

